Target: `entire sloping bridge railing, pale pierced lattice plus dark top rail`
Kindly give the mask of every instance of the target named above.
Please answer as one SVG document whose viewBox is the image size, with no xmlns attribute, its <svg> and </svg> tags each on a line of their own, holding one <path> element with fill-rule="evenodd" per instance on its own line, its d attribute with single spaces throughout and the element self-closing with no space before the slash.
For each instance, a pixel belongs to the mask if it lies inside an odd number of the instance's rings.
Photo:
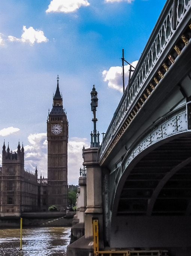
<svg viewBox="0 0 191 256">
<path fill-rule="evenodd" d="M 126 100 L 126 88 L 105 134 L 100 149 L 100 157 L 102 157 L 103 153 L 107 149 L 111 139 L 117 131 L 117 128 L 125 117 L 126 112 L 129 110 L 129 108 L 131 108 L 137 94 L 146 83 L 147 78 L 149 77 L 156 63 L 159 61 L 164 49 L 171 41 L 171 38 L 176 31 L 173 29 L 173 19 L 176 18 L 174 24 L 176 25 L 176 28 L 178 28 L 188 12 L 188 9 L 191 7 L 191 0 L 177 0 L 177 8 L 175 12 L 177 15 L 173 16 L 173 2 L 173 0 L 167 0 L 164 8 L 162 9 L 158 21 L 149 37 L 149 40 L 147 41 L 146 47 L 144 48 L 137 67 L 135 68 L 135 71 L 131 77 L 128 101 Z M 125 111 L 127 103 L 128 108 L 127 111 Z"/>
</svg>

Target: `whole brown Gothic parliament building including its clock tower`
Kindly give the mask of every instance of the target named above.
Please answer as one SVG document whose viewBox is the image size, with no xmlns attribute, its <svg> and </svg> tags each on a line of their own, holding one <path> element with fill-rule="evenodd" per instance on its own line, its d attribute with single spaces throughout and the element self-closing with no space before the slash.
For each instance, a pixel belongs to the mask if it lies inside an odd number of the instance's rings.
<svg viewBox="0 0 191 256">
<path fill-rule="evenodd" d="M 47 211 L 55 205 L 66 210 L 68 195 L 68 120 L 57 78 L 53 107 L 47 120 L 48 178 L 38 178 L 24 168 L 24 147 L 18 143 L 17 152 L 2 151 L 0 167 L 0 216 L 20 215 L 21 212 Z"/>
</svg>

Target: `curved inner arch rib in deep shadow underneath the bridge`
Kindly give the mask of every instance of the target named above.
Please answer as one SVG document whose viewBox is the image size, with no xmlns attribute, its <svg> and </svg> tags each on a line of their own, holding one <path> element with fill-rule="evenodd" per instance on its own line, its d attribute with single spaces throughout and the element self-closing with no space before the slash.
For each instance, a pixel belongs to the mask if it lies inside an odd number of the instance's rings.
<svg viewBox="0 0 191 256">
<path fill-rule="evenodd" d="M 155 188 L 152 197 L 150 198 L 150 202 L 149 205 L 147 207 L 147 213 L 146 215 L 151 215 L 152 214 L 152 210 L 154 207 L 154 204 L 156 202 L 156 199 L 159 195 L 159 193 L 161 192 L 162 188 L 164 187 L 164 185 L 167 183 L 167 181 L 180 169 L 182 169 L 184 166 L 188 165 L 191 162 L 191 157 L 187 158 L 186 160 L 184 160 L 182 163 L 180 163 L 179 165 L 175 166 L 173 169 L 171 169 L 170 172 L 168 172 L 164 178 L 159 182 L 158 186 Z M 189 208 L 191 208 L 191 201 L 190 201 L 190 206 L 188 205 Z M 190 209 L 191 210 L 191 209 Z M 189 215 L 189 210 L 188 213 L 186 211 L 186 215 Z"/>
</svg>

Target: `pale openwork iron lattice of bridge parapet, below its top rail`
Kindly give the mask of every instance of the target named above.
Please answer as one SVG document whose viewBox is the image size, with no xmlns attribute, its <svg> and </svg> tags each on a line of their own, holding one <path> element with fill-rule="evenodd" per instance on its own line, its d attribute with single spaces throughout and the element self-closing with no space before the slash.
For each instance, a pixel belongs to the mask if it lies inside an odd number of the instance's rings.
<svg viewBox="0 0 191 256">
<path fill-rule="evenodd" d="M 176 27 L 178 28 L 181 21 L 185 17 L 188 10 L 191 8 L 191 0 L 177 0 L 177 20 Z M 173 30 L 173 1 L 171 1 L 171 6 L 167 15 L 164 17 L 164 22 L 162 26 L 156 32 L 155 39 L 153 40 L 152 46 L 148 50 L 146 58 L 144 59 L 142 65 L 138 64 L 140 67 L 139 70 L 135 69 L 134 75 L 130 83 L 129 97 L 128 97 L 128 109 L 133 104 L 135 97 L 138 92 L 143 87 L 146 79 L 148 78 L 150 72 L 156 65 L 156 62 L 159 60 L 160 56 L 164 52 L 164 49 L 167 47 L 170 42 L 174 32 Z M 136 75 L 137 74 L 137 75 Z M 135 78 L 134 78 L 135 76 Z M 126 92 L 125 92 L 126 94 Z M 124 118 L 126 111 L 126 95 L 123 94 L 123 101 L 120 102 L 117 112 L 114 114 L 114 119 L 112 120 L 107 133 L 105 134 L 104 140 L 102 142 L 100 157 L 103 155 L 107 149 L 108 144 L 114 136 L 117 128 L 119 127 L 122 119 Z"/>
</svg>

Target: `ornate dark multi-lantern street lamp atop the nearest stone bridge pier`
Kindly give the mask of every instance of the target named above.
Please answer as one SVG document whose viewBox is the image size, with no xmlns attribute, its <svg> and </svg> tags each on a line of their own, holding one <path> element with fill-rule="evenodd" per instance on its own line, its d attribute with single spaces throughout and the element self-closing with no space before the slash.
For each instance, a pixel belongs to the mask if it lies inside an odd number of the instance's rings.
<svg viewBox="0 0 191 256">
<path fill-rule="evenodd" d="M 98 93 L 95 90 L 95 85 L 93 85 L 92 91 L 91 91 L 91 110 L 93 112 L 93 133 L 91 133 L 91 145 L 90 148 L 97 148 L 99 146 L 99 131 L 98 134 L 96 134 L 96 122 L 98 121 L 98 119 L 96 118 L 96 107 L 98 107 Z M 97 141 L 97 137 L 98 137 L 98 141 Z"/>
</svg>

